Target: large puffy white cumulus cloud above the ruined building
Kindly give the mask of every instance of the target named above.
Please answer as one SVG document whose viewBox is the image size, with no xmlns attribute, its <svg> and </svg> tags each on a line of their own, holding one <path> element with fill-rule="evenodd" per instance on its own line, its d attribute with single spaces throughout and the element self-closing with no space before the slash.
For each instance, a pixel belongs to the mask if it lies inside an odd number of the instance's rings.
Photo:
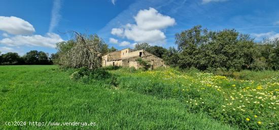
<svg viewBox="0 0 279 130">
<path fill-rule="evenodd" d="M 134 20 L 136 24 L 126 24 L 124 28 L 113 28 L 111 33 L 136 42 L 162 44 L 166 38 L 162 29 L 176 23 L 175 19 L 158 13 L 154 8 L 138 11 Z"/>
</svg>

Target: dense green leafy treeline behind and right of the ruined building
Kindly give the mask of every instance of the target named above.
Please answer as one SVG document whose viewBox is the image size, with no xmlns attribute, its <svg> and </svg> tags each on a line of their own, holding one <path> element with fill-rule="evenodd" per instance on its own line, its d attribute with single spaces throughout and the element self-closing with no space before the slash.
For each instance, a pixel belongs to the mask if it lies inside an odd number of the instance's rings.
<svg viewBox="0 0 279 130">
<path fill-rule="evenodd" d="M 194 26 L 176 34 L 177 48 L 164 49 L 137 44 L 164 59 L 165 63 L 181 69 L 196 68 L 210 71 L 279 70 L 279 39 L 254 41 L 234 29 L 210 31 Z"/>
</svg>

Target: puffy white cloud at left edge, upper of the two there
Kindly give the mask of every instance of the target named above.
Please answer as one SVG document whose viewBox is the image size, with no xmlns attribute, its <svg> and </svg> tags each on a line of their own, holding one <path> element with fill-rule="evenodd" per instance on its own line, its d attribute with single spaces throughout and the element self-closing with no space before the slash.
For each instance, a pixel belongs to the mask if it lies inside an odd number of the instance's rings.
<svg viewBox="0 0 279 130">
<path fill-rule="evenodd" d="M 29 22 L 14 16 L 0 16 L 0 30 L 10 34 L 32 34 L 35 32 L 33 25 Z"/>
</svg>

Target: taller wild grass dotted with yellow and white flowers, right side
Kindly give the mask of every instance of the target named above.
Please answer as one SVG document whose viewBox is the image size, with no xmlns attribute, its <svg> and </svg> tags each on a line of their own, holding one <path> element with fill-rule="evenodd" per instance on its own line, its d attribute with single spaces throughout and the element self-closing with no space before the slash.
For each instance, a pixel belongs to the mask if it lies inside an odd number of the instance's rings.
<svg viewBox="0 0 279 130">
<path fill-rule="evenodd" d="M 111 72 L 119 76 L 120 89 L 177 99 L 189 112 L 207 113 L 242 129 L 279 129 L 279 71 L 241 71 L 240 79 L 172 68 Z"/>
</svg>

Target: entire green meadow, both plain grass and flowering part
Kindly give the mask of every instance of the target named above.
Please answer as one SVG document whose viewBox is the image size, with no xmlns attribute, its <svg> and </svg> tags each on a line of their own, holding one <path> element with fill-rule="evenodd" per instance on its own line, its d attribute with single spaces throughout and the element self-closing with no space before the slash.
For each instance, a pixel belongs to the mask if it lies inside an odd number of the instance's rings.
<svg viewBox="0 0 279 130">
<path fill-rule="evenodd" d="M 0 129 L 279 129 L 279 71 L 106 70 L 110 77 L 75 80 L 80 70 L 0 66 Z"/>
</svg>

